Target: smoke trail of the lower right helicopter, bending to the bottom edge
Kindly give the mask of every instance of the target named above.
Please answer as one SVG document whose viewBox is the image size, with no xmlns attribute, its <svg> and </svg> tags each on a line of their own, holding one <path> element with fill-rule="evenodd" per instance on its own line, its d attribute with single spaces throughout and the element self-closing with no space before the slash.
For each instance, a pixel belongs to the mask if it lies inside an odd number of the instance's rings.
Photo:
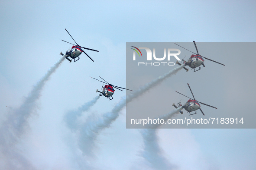
<svg viewBox="0 0 256 170">
<path fill-rule="evenodd" d="M 181 110 L 181 107 L 178 107 L 177 109 L 160 116 L 159 119 L 166 121 L 170 119 L 175 113 L 179 113 L 179 110 Z M 162 150 L 158 144 L 158 137 L 156 135 L 156 130 L 161 125 L 162 124 L 149 124 L 147 128 L 152 129 L 141 130 L 144 143 L 144 148 L 141 155 L 146 161 L 148 161 L 148 164 L 153 169 L 169 170 L 175 168 L 175 166 L 170 164 L 162 155 Z"/>
</svg>

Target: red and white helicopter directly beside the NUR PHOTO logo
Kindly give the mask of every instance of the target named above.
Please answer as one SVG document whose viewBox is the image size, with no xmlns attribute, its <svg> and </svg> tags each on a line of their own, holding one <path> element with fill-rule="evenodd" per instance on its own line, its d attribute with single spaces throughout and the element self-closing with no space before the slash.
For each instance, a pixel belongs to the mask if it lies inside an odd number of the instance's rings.
<svg viewBox="0 0 256 170">
<path fill-rule="evenodd" d="M 197 50 L 197 53 L 198 53 L 197 45 L 195 44 L 195 41 L 193 41 L 193 42 L 194 42 L 194 47 L 195 47 L 195 49 Z M 174 44 L 176 44 L 176 43 L 174 43 Z M 178 44 L 176 44 L 176 45 L 178 45 Z M 178 45 L 178 46 L 180 46 L 180 45 Z M 181 46 L 180 46 L 180 47 L 181 47 Z M 184 48 L 184 47 L 182 47 L 182 48 Z M 185 49 L 185 50 L 188 50 L 188 49 L 186 49 L 186 48 L 184 48 L 184 49 Z M 188 50 L 188 51 L 190 51 L 190 50 Z M 191 55 L 191 57 L 190 57 L 187 61 L 185 61 L 184 59 L 183 59 L 182 61 L 183 61 L 183 63 L 185 64 L 185 66 L 189 66 L 189 67 L 191 67 L 191 69 L 194 69 L 194 72 L 200 70 L 200 69 L 201 69 L 201 67 L 200 67 L 201 65 L 204 66 L 204 59 L 203 59 L 203 58 L 225 66 L 225 65 L 222 64 L 222 63 L 219 63 L 219 62 L 217 62 L 217 61 L 214 61 L 214 60 L 208 59 L 208 58 L 206 58 L 206 57 L 203 57 L 203 56 L 201 56 L 199 53 L 196 54 L 196 53 L 194 53 L 194 52 L 192 52 L 192 51 L 190 51 L 190 52 L 193 53 L 193 54 Z M 194 54 L 195 54 L 195 55 L 194 55 Z M 178 65 L 181 66 L 181 63 L 179 63 L 178 61 L 176 62 L 176 64 L 178 64 Z M 195 70 L 196 67 L 199 67 L 199 69 Z M 204 66 L 204 67 L 205 67 L 205 66 Z M 186 68 L 184 67 L 184 69 L 186 69 Z M 187 69 L 186 69 L 186 70 L 187 70 Z"/>
</svg>

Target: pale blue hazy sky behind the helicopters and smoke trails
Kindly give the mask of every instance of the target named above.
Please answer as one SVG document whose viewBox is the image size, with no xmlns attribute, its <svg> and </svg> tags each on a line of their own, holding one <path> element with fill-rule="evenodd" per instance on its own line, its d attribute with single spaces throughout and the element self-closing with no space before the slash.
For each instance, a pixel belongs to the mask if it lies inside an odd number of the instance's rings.
<svg viewBox="0 0 256 170">
<path fill-rule="evenodd" d="M 125 109 L 97 137 L 94 156 L 82 156 L 73 145 L 77 136 L 66 126 L 64 117 L 99 94 L 96 89 L 102 83 L 90 76 L 101 76 L 125 88 L 126 42 L 184 41 L 191 42 L 192 51 L 195 51 L 192 41 L 255 42 L 255 8 L 253 1 L 230 0 L 1 2 L 0 126 L 8 114 L 26 101 L 33 85 L 59 60 L 59 53 L 71 48 L 71 44 L 61 41 L 74 43 L 66 28 L 79 45 L 100 52 L 86 51 L 94 62 L 81 54 L 78 62 L 64 60 L 60 64 L 45 83 L 36 101 L 36 113 L 29 117 L 29 126 L 13 148 L 33 169 L 39 170 L 82 169 L 82 164 L 91 169 L 146 167 L 139 155 L 142 136 L 138 129 L 126 129 Z M 154 90 L 167 89 L 172 83 L 173 90 L 190 96 L 186 85 L 189 83 L 199 101 L 218 108 L 216 111 L 204 107 L 204 113 L 255 113 L 255 54 L 225 58 L 224 54 L 218 54 L 218 49 L 207 50 L 208 54 L 201 55 L 226 66 L 206 61 L 206 67 L 200 71 L 181 70 Z M 145 77 L 144 81 L 150 82 L 158 76 L 161 75 Z M 167 112 L 174 109 L 172 101 L 187 100 L 174 91 L 167 94 L 174 95 L 166 102 L 170 104 Z M 79 123 L 90 115 L 100 116 L 112 110 L 125 95 L 125 91 L 115 91 L 111 101 L 100 97 L 79 117 Z M 144 98 L 147 97 L 149 94 L 145 94 Z M 143 96 L 137 100 L 143 100 Z M 176 169 L 222 170 L 256 167 L 255 132 L 255 129 L 159 129 L 157 135 L 162 154 Z M 0 158 L 1 168 L 10 168 L 5 162 L 8 157 L 1 153 Z"/>
</svg>

